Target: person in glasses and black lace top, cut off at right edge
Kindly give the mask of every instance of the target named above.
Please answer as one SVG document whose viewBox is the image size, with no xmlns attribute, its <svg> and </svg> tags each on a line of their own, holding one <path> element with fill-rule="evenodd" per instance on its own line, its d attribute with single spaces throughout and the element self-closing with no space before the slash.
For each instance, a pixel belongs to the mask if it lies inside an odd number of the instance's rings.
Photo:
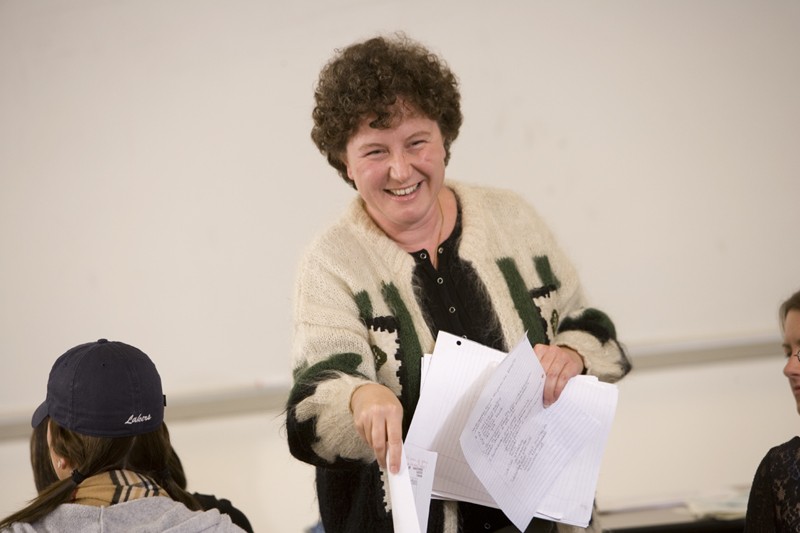
<svg viewBox="0 0 800 533">
<path fill-rule="evenodd" d="M 786 364 L 797 412 L 800 413 L 800 291 L 779 310 Z M 745 516 L 745 533 L 800 531 L 800 437 L 770 449 L 756 469 Z"/>
</svg>

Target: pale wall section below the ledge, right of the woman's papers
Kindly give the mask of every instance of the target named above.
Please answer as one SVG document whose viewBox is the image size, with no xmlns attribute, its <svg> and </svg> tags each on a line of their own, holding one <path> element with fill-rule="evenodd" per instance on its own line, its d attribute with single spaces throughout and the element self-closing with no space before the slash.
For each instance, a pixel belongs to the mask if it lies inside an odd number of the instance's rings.
<svg viewBox="0 0 800 533">
<path fill-rule="evenodd" d="M 749 487 L 767 450 L 800 433 L 784 363 L 775 355 L 626 377 L 598 507 L 691 501 Z"/>
</svg>

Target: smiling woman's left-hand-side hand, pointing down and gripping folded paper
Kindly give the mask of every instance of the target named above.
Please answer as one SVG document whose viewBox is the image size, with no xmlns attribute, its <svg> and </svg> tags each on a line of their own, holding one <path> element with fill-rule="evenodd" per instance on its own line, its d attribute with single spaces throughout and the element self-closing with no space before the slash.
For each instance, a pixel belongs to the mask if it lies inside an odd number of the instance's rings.
<svg viewBox="0 0 800 533">
<path fill-rule="evenodd" d="M 353 422 L 361 438 L 372 447 L 378 465 L 385 469 L 387 449 L 389 471 L 400 470 L 403 446 L 403 406 L 387 387 L 368 383 L 358 387 L 350 397 Z"/>
</svg>

